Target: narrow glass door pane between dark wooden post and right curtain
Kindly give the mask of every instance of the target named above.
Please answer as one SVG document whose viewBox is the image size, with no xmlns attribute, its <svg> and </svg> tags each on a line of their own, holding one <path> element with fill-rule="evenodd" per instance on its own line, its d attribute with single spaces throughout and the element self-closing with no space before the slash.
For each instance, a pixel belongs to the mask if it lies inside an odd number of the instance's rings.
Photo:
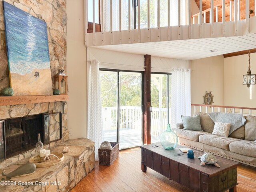
<svg viewBox="0 0 256 192">
<path fill-rule="evenodd" d="M 160 142 L 160 134 L 170 123 L 171 74 L 151 74 L 151 142 Z"/>
</svg>

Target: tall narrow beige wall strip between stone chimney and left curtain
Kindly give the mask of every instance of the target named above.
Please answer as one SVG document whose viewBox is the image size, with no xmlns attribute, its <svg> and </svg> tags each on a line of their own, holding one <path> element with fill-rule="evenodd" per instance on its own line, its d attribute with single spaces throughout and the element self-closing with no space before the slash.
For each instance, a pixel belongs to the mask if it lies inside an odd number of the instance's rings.
<svg viewBox="0 0 256 192">
<path fill-rule="evenodd" d="M 67 0 L 68 129 L 71 139 L 87 136 L 87 70 L 84 0 Z"/>
</svg>

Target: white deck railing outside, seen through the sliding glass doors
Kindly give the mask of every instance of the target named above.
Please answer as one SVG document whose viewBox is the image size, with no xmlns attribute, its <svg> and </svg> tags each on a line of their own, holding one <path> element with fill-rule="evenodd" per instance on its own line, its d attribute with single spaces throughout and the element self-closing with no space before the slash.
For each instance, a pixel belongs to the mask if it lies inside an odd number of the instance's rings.
<svg viewBox="0 0 256 192">
<path fill-rule="evenodd" d="M 116 130 L 118 112 L 116 107 L 103 107 L 103 130 Z M 151 112 L 151 134 L 159 136 L 167 125 L 167 109 L 152 108 Z M 120 107 L 120 129 L 142 130 L 142 112 L 138 106 Z"/>
</svg>

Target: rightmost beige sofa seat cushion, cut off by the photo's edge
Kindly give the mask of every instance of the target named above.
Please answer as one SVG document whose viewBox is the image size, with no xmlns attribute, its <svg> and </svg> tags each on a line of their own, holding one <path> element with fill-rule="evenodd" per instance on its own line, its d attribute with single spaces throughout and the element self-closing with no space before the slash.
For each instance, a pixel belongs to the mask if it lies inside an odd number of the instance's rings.
<svg viewBox="0 0 256 192">
<path fill-rule="evenodd" d="M 256 157 L 256 143 L 254 141 L 235 141 L 229 145 L 230 151 L 251 157 Z"/>
</svg>

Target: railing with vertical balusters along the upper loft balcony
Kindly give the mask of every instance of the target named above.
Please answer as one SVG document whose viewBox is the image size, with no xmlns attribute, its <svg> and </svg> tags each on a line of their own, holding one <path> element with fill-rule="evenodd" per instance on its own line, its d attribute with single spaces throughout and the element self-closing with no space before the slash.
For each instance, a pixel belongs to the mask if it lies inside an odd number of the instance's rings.
<svg viewBox="0 0 256 192">
<path fill-rule="evenodd" d="M 88 1 L 92 2 L 92 7 L 88 8 Z M 99 8 L 96 8 L 96 2 L 98 5 L 99 2 Z M 132 1 L 133 2 L 133 1 Z M 147 0 L 147 1 L 140 1 L 136 0 L 134 2 L 135 4 L 132 4 L 131 0 L 84 0 L 85 5 L 85 33 L 87 31 L 92 31 L 93 33 L 93 45 L 98 44 L 96 43 L 96 40 L 98 41 L 98 37 L 96 36 L 96 32 L 101 32 L 102 36 L 100 38 L 100 41 L 102 41 L 102 45 L 105 44 L 105 41 L 110 41 L 110 44 L 116 44 L 116 36 L 119 35 L 118 41 L 119 44 L 122 44 L 122 40 L 124 40 L 125 43 L 137 43 L 142 41 L 142 33 L 146 33 L 148 42 L 156 41 L 154 38 L 151 39 L 152 36 L 157 37 L 157 41 L 160 41 L 161 36 L 164 34 L 164 36 L 167 35 L 167 40 L 172 40 L 172 32 L 170 29 L 170 26 L 178 26 L 178 39 L 182 38 L 182 33 L 184 33 L 184 28 L 181 28 L 181 25 L 187 25 L 186 33 L 188 33 L 188 38 L 191 38 L 192 25 L 195 24 L 196 18 L 198 18 L 198 24 L 200 24 L 200 38 L 203 37 L 203 26 L 202 24 L 206 23 L 206 14 L 210 12 L 210 19 L 209 23 L 211 24 L 211 35 L 214 36 L 214 23 L 218 22 L 218 17 L 222 17 L 222 35 L 225 36 L 226 33 L 226 17 L 228 15 L 230 16 L 230 21 L 234 21 L 234 33 L 233 35 L 236 35 L 238 32 L 238 21 L 240 20 L 240 15 L 242 12 L 244 12 L 244 9 L 242 10 L 240 4 L 244 4 L 245 2 L 245 22 L 246 22 L 246 33 L 249 33 L 250 27 L 249 27 L 249 18 L 250 18 L 250 9 L 253 9 L 256 4 L 256 0 L 222 0 L 221 4 L 218 4 L 218 2 L 214 3 L 214 0 L 209 0 L 210 2 L 210 8 L 203 9 L 202 0 L 199 1 L 199 12 L 192 15 L 192 6 L 191 6 L 191 0 L 176 0 L 176 1 L 170 1 L 167 0 L 165 3 L 162 4 L 163 1 L 161 0 Z M 142 3 L 143 6 L 142 6 Z M 151 4 L 153 5 L 153 8 Z M 161 4 L 160 4 L 161 3 Z M 184 4 L 186 4 L 184 8 Z M 232 6 L 233 4 L 233 6 Z M 229 12 L 225 11 L 226 9 L 229 9 Z M 135 7 L 135 9 L 133 8 Z M 160 8 L 161 7 L 161 8 Z M 165 9 L 164 9 L 164 8 Z M 143 9 L 142 9 L 143 8 Z M 90 27 L 92 29 L 88 30 L 88 9 L 92 10 L 92 15 L 90 14 Z M 99 10 L 98 10 L 99 9 Z M 152 10 L 154 9 L 154 10 Z M 164 13 L 162 11 L 164 9 Z M 106 11 L 107 10 L 107 11 Z M 216 19 L 214 22 L 214 10 L 216 12 Z M 220 13 L 221 10 L 221 14 Z M 241 10 L 241 11 L 240 11 Z M 160 13 L 161 12 L 161 13 Z M 134 14 L 135 13 L 135 14 Z M 97 14 L 97 15 L 96 15 Z M 146 16 L 145 16 L 146 14 Z M 152 16 L 154 14 L 154 16 Z M 244 14 L 244 13 L 243 13 Z M 135 16 L 136 15 L 136 16 Z M 135 16 L 135 17 L 134 17 Z M 254 15 L 255 16 L 255 8 L 254 8 Z M 92 19 L 91 19 L 92 17 Z M 96 30 L 96 18 L 100 22 L 100 28 L 101 30 Z M 175 23 L 173 22 L 173 19 L 175 17 Z M 125 19 L 124 19 L 125 18 Z M 166 22 L 162 24 L 162 20 L 166 19 Z M 184 21 L 185 22 L 182 22 Z M 136 23 L 136 25 L 134 25 Z M 152 24 L 154 23 L 154 24 Z M 109 27 L 106 27 L 104 25 L 108 25 Z M 160 28 L 166 27 L 164 31 L 161 31 Z M 221 27 L 218 25 L 218 27 Z M 142 29 L 143 28 L 143 29 Z M 153 29 L 154 30 L 151 30 Z M 146 30 L 147 29 L 147 30 Z M 229 25 L 227 26 L 227 30 L 231 30 Z M 114 33 L 115 31 L 115 33 Z M 122 31 L 126 31 L 125 33 L 122 33 Z M 135 31 L 135 32 L 132 32 Z M 167 32 L 168 31 L 168 32 Z M 106 35 L 104 35 L 105 32 L 108 32 Z M 119 33 L 118 33 L 119 32 Z M 153 34 L 151 34 L 153 33 Z M 125 36 L 125 39 L 124 37 Z M 136 40 L 134 41 L 134 36 L 136 36 Z M 143 34 L 143 37 L 145 34 Z M 105 38 L 105 39 L 104 39 Z M 108 40 L 110 38 L 110 40 Z M 126 39 L 127 38 L 127 39 Z M 165 38 L 164 38 L 165 39 Z M 113 42 L 115 40 L 115 42 Z M 126 42 L 127 41 L 127 42 Z M 145 42 L 145 40 L 143 40 Z"/>
</svg>

